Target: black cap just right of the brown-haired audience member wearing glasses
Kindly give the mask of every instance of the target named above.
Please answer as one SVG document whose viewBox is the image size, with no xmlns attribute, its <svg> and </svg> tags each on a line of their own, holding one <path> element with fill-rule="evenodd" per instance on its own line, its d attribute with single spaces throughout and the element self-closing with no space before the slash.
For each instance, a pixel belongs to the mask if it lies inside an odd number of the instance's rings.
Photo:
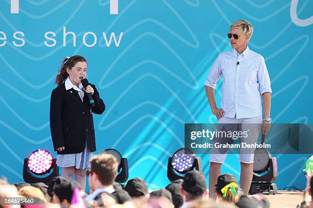
<svg viewBox="0 0 313 208">
<path fill-rule="evenodd" d="M 144 196 L 148 193 L 148 187 L 144 179 L 136 177 L 128 180 L 125 191 L 127 191 L 131 197 Z"/>
</svg>

